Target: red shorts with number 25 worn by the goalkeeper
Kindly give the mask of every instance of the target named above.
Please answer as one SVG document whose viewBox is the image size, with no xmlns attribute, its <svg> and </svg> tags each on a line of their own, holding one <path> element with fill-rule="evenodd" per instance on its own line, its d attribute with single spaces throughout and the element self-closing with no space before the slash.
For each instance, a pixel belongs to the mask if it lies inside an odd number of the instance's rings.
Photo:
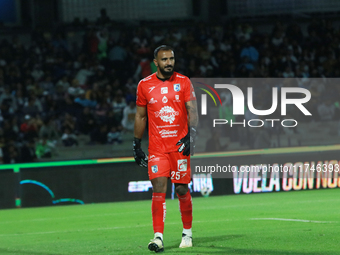
<svg viewBox="0 0 340 255">
<path fill-rule="evenodd" d="M 149 150 L 149 179 L 168 177 L 172 183 L 189 184 L 191 181 L 190 156 L 178 151 L 160 153 Z"/>
</svg>

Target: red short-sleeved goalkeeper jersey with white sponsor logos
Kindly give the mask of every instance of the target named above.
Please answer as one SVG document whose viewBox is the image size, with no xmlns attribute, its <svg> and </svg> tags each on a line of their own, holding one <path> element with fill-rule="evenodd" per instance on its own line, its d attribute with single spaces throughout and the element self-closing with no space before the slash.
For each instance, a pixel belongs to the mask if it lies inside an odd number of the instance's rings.
<svg viewBox="0 0 340 255">
<path fill-rule="evenodd" d="M 149 150 L 177 151 L 176 143 L 188 133 L 185 103 L 192 100 L 196 96 L 191 82 L 179 73 L 165 81 L 154 73 L 139 82 L 136 104 L 147 107 Z"/>
</svg>

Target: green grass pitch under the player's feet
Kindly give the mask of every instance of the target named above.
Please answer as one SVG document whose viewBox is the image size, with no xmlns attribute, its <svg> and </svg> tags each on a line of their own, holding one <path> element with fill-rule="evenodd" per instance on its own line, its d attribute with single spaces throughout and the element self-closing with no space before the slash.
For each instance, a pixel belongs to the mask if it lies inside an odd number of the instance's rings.
<svg viewBox="0 0 340 255">
<path fill-rule="evenodd" d="M 151 200 L 0 210 L 0 254 L 153 254 Z M 340 254 L 340 190 L 193 199 L 194 247 L 179 249 L 167 199 L 163 254 Z"/>
</svg>

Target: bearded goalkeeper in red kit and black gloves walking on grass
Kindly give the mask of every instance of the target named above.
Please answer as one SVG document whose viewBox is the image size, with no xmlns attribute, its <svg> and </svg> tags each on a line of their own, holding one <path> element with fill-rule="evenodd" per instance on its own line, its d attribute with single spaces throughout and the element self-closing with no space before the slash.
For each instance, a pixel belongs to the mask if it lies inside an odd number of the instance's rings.
<svg viewBox="0 0 340 255">
<path fill-rule="evenodd" d="M 188 184 L 198 114 L 195 92 L 189 78 L 174 72 L 173 49 L 166 45 L 155 49 L 154 63 L 157 72 L 141 80 L 137 88 L 133 152 L 136 163 L 148 168 L 153 186 L 151 209 L 154 238 L 148 248 L 162 252 L 168 178 L 175 184 L 183 222 L 179 247 L 192 246 L 192 201 Z M 141 149 L 147 119 L 148 157 Z"/>
</svg>

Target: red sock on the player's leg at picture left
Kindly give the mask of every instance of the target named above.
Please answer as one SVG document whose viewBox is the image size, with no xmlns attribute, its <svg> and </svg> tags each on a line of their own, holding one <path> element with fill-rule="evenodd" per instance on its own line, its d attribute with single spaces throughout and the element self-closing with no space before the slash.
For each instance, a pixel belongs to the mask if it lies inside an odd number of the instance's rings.
<svg viewBox="0 0 340 255">
<path fill-rule="evenodd" d="M 159 232 L 163 234 L 166 214 L 165 193 L 152 194 L 151 210 L 153 231 L 154 233 Z"/>
</svg>

